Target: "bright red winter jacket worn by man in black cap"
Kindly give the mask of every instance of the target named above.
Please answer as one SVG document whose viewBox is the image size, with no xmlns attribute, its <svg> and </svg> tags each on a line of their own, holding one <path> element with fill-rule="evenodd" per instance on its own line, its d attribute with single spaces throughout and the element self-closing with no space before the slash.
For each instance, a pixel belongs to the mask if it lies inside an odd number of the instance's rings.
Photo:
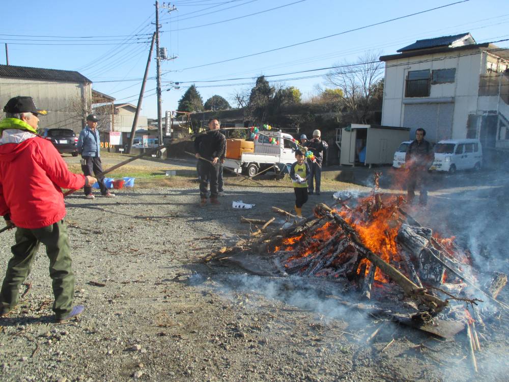
<svg viewBox="0 0 509 382">
<path fill-rule="evenodd" d="M 17 129 L 19 122 L 0 130 L 0 215 L 9 214 L 16 227 L 42 228 L 66 214 L 61 187 L 81 188 L 84 176 L 69 171 L 50 141 Z"/>
</svg>

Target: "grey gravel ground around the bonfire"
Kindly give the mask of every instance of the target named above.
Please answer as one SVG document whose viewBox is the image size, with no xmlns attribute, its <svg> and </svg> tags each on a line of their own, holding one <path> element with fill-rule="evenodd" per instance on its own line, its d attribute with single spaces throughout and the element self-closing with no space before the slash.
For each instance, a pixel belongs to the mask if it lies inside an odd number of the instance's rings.
<svg viewBox="0 0 509 382">
<path fill-rule="evenodd" d="M 336 189 L 362 188 L 338 183 Z M 330 204 L 331 195 L 310 197 L 303 213 L 315 203 Z M 366 342 L 381 323 L 373 317 L 319 304 L 312 293 L 282 281 L 200 262 L 245 235 L 240 216 L 268 219 L 272 205 L 291 210 L 291 189 L 230 187 L 221 206 L 206 208 L 197 207 L 198 199 L 197 189 L 177 188 L 124 189 L 115 199 L 93 201 L 70 196 L 75 303 L 86 311 L 78 320 L 52 323 L 41 250 L 27 279 L 30 292 L 14 314 L 0 319 L 0 379 L 475 379 L 463 333 L 444 342 L 387 322 Z M 236 210 L 234 200 L 257 206 Z M 2 238 L 6 264 L 14 235 Z M 481 332 L 477 357 L 485 380 L 506 380 L 507 329 L 501 316 Z"/>
</svg>

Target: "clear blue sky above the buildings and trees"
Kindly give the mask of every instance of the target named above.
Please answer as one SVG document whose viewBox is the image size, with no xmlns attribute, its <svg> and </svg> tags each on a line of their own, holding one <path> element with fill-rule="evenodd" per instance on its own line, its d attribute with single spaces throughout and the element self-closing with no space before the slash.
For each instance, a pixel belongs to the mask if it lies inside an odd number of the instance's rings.
<svg viewBox="0 0 509 382">
<path fill-rule="evenodd" d="M 0 43 L 9 44 L 11 65 L 78 70 L 93 81 L 95 90 L 110 94 L 117 98 L 117 102 L 135 104 L 147 62 L 148 41 L 155 29 L 152 24 L 155 21 L 154 3 L 153 0 L 31 0 L 17 8 L 17 3 L 6 2 L 2 5 Z M 509 37 L 506 0 L 492 0 L 489 7 L 483 0 L 470 0 L 295 47 L 191 69 L 451 3 L 454 0 L 367 0 L 362 3 L 332 0 L 176 1 L 171 4 L 178 11 L 160 10 L 163 31 L 160 45 L 167 48 L 168 56 L 179 57 L 161 65 L 164 73 L 163 111 L 176 110 L 178 100 L 193 81 L 196 81 L 204 101 L 214 94 L 231 101 L 235 91 L 250 89 L 261 74 L 282 74 L 354 62 L 367 51 L 391 54 L 422 38 L 463 32 L 470 32 L 477 42 Z M 281 8 L 270 10 L 276 7 Z M 266 10 L 270 11 L 221 22 Z M 210 25 L 214 22 L 219 23 Z M 84 38 L 90 36 L 94 37 Z M 509 43 L 498 45 L 506 47 Z M 5 64 L 3 46 L 0 63 Z M 155 60 L 152 60 L 149 76 L 154 77 L 155 73 Z M 314 93 L 317 84 L 324 84 L 321 75 L 325 73 L 272 78 L 284 80 L 315 75 L 314 78 L 277 83 L 297 87 L 305 98 Z M 248 79 L 197 82 L 243 77 Z M 173 89 L 171 81 L 180 82 L 180 90 Z M 151 118 L 157 115 L 155 87 L 155 80 L 150 79 L 142 106 L 142 114 Z"/>
</svg>

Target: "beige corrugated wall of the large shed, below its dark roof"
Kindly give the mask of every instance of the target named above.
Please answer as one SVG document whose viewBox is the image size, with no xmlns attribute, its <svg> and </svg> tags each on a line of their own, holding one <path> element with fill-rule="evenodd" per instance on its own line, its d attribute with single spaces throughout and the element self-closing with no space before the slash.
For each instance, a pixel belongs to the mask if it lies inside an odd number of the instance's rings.
<svg viewBox="0 0 509 382">
<path fill-rule="evenodd" d="M 91 110 L 92 84 L 0 77 L 0 110 L 18 95 L 34 98 L 39 108 L 48 111 L 40 118 L 40 128 L 70 128 L 79 133 Z M 1 111 L 0 115 L 4 117 Z"/>
</svg>

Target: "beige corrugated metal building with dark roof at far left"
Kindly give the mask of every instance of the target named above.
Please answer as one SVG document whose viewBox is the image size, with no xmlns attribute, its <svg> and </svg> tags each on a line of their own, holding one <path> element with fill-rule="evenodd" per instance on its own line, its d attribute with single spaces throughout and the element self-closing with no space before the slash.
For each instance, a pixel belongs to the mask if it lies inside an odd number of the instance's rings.
<svg viewBox="0 0 509 382">
<path fill-rule="evenodd" d="M 0 65 L 2 109 L 18 95 L 33 97 L 38 107 L 49 112 L 40 119 L 40 128 L 79 133 L 92 109 L 92 81 L 76 71 Z"/>
</svg>

